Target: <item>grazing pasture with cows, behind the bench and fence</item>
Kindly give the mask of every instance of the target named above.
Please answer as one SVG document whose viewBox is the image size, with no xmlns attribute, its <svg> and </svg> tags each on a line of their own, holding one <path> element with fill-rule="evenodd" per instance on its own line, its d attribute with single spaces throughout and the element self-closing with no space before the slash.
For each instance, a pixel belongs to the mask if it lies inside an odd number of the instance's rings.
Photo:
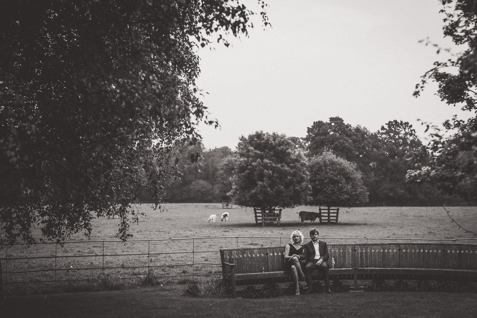
<svg viewBox="0 0 477 318">
<path fill-rule="evenodd" d="M 144 275 L 145 269 L 131 269 L 127 266 L 149 265 L 172 265 L 192 263 L 193 255 L 187 254 L 154 254 L 169 252 L 196 252 L 218 251 L 220 248 L 273 246 L 286 244 L 290 233 L 300 229 L 305 237 L 311 227 L 317 227 L 320 236 L 324 236 L 328 242 L 341 243 L 345 240 L 331 239 L 331 237 L 381 237 L 381 238 L 416 238 L 416 239 L 455 239 L 472 238 L 471 233 L 465 233 L 455 223 L 451 223 L 444 209 L 439 207 L 365 207 L 365 208 L 342 208 L 339 215 L 339 223 L 304 224 L 298 220 L 297 212 L 318 211 L 318 207 L 301 206 L 294 209 L 285 209 L 282 212 L 280 227 L 269 225 L 261 227 L 255 224 L 253 209 L 235 207 L 222 209 L 220 204 L 167 204 L 166 212 L 154 211 L 150 205 L 138 205 L 139 210 L 145 212 L 147 217 L 141 219 L 139 225 L 132 226 L 135 240 L 148 239 L 183 239 L 173 241 L 151 242 L 105 242 L 114 241 L 117 231 L 117 219 L 98 219 L 93 223 L 93 233 L 90 238 L 82 234 L 75 235 L 69 240 L 82 241 L 85 243 L 67 243 L 64 247 L 56 244 L 39 244 L 29 249 L 21 247 L 9 248 L 2 251 L 2 256 L 8 253 L 11 257 L 34 257 L 34 256 L 57 256 L 49 259 L 10 260 L 8 268 L 3 263 L 4 270 L 22 271 L 39 270 L 45 268 L 59 269 L 56 272 L 33 272 L 27 274 L 10 274 L 9 282 L 14 281 L 38 281 L 38 280 L 66 280 L 83 279 L 102 270 L 79 271 L 74 268 L 117 266 L 109 270 L 115 276 L 132 277 Z M 451 215 L 460 224 L 474 232 L 477 232 L 477 208 L 476 207 L 452 207 Z M 219 217 L 224 211 L 230 213 L 228 221 L 221 222 Z M 217 214 L 216 223 L 207 223 L 210 214 Z M 206 238 L 190 239 L 210 236 L 231 236 L 232 238 Z M 235 238 L 236 236 L 282 236 L 280 238 Z M 100 242 L 95 242 L 100 241 Z M 363 240 L 346 240 L 348 243 L 363 242 Z M 376 241 L 370 241 L 376 242 Z M 475 242 L 475 241 L 474 241 Z M 470 242 L 469 242 L 470 243 Z M 102 256 L 104 254 L 136 254 L 134 256 Z M 153 254 L 147 257 L 148 251 Z M 72 255 L 97 255 L 72 258 Z M 195 263 L 219 263 L 218 252 L 195 253 Z M 62 270 L 70 269 L 73 270 Z M 218 265 L 196 265 L 195 273 L 212 274 L 219 273 Z M 181 267 L 157 267 L 156 275 L 188 275 L 192 273 L 192 266 Z M 5 276 L 4 276 L 5 278 Z"/>
</svg>

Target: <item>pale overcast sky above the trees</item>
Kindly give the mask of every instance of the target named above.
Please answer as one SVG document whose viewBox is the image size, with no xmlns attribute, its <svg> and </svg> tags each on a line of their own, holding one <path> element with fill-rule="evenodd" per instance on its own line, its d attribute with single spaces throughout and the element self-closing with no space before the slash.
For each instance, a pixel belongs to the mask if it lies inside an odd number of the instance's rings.
<svg viewBox="0 0 477 318">
<path fill-rule="evenodd" d="M 438 0 L 267 2 L 271 28 L 263 30 L 258 16 L 248 38 L 198 52 L 197 85 L 221 125 L 200 125 L 206 147 L 234 150 L 241 135 L 256 130 L 305 137 L 314 121 L 336 116 L 371 131 L 408 121 L 421 139 L 417 118 L 467 118 L 440 101 L 435 84 L 412 95 L 420 76 L 449 57 L 419 40 L 462 51 L 443 38 Z"/>
</svg>

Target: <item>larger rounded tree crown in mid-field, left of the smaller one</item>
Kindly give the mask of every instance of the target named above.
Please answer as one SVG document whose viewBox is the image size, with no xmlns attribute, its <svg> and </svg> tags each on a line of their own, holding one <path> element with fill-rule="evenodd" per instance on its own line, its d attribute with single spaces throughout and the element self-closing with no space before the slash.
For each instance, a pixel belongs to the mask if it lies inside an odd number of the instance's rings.
<svg viewBox="0 0 477 318">
<path fill-rule="evenodd" d="M 241 137 L 235 152 L 235 204 L 271 210 L 308 201 L 310 185 L 302 151 L 290 138 L 257 131 Z"/>
</svg>

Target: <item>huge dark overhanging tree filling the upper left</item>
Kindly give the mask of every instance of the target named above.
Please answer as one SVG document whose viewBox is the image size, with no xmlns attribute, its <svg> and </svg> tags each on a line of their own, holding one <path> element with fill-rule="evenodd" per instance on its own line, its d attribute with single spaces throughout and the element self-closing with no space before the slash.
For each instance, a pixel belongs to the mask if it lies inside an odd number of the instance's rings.
<svg viewBox="0 0 477 318">
<path fill-rule="evenodd" d="M 196 49 L 247 34 L 252 12 L 239 0 L 20 0 L 2 11 L 0 243 L 35 242 L 32 226 L 46 239 L 88 234 L 116 208 L 126 240 L 137 189 L 159 202 L 173 142 L 214 124 L 196 96 Z"/>
</svg>

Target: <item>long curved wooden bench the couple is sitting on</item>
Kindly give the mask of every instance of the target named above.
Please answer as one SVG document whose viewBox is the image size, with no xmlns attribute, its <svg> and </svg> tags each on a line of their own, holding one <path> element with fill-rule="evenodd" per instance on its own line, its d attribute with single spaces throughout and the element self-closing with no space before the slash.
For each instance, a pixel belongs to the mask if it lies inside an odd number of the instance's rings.
<svg viewBox="0 0 477 318">
<path fill-rule="evenodd" d="M 285 246 L 221 249 L 222 278 L 231 288 L 290 282 Z M 328 244 L 330 279 L 436 279 L 477 281 L 477 244 Z M 324 275 L 315 271 L 315 280 Z"/>
</svg>

